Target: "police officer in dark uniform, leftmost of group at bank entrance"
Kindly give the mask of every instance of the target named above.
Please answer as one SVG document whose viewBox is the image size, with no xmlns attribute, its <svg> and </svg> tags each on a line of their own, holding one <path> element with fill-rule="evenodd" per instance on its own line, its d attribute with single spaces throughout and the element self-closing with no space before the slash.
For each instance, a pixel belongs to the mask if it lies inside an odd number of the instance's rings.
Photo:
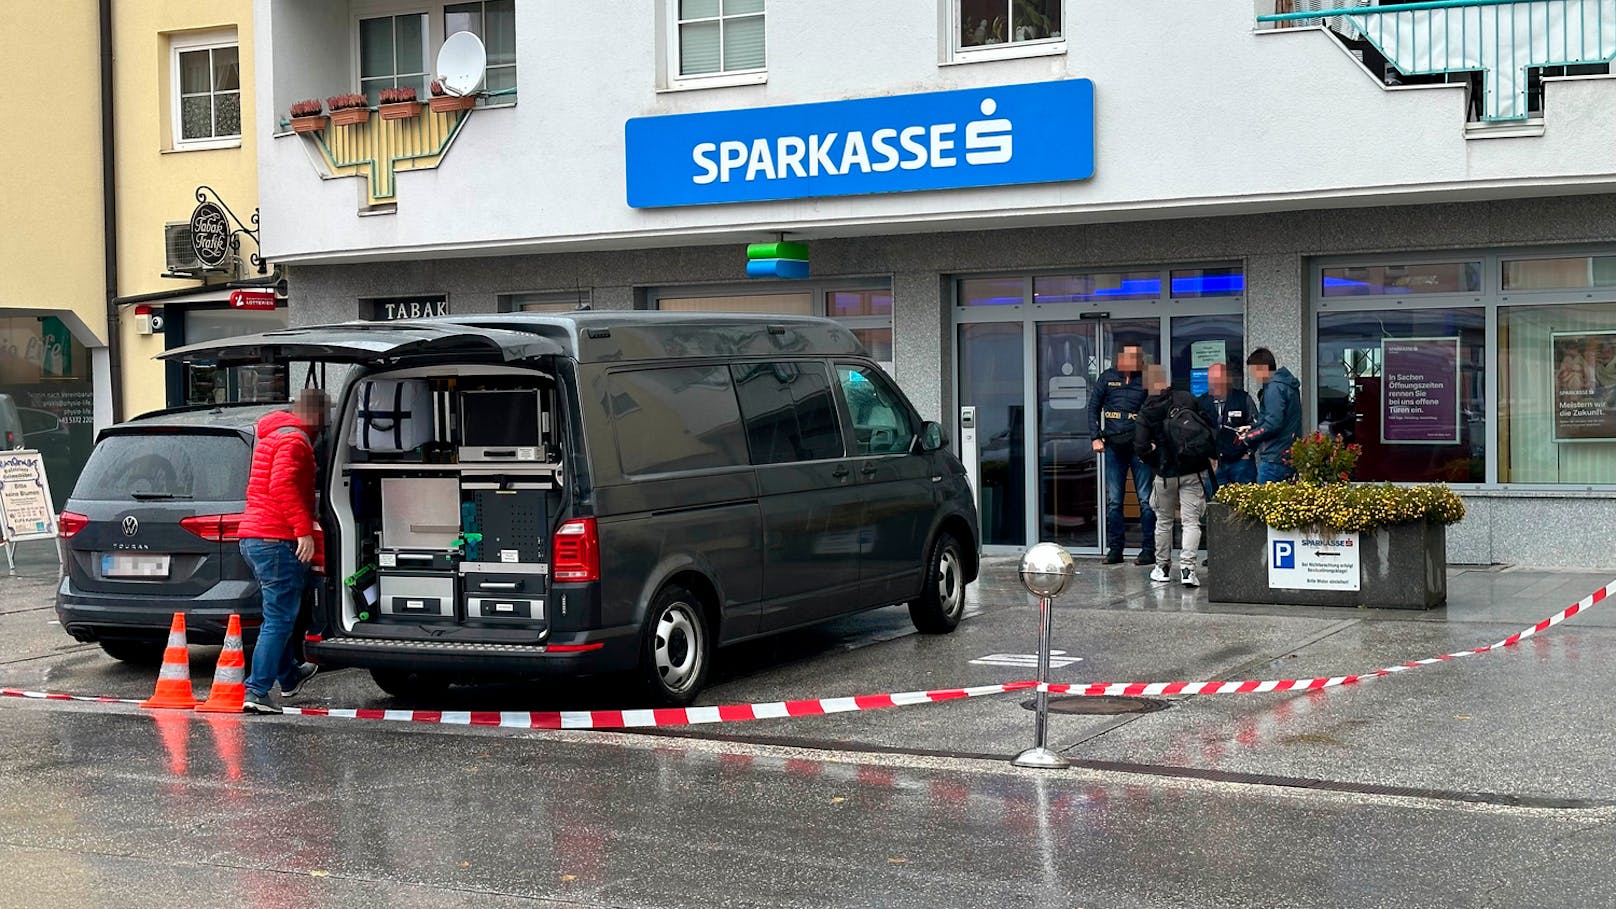
<svg viewBox="0 0 1616 909">
<path fill-rule="evenodd" d="M 1151 509 L 1151 467 L 1133 450 L 1134 422 L 1144 404 L 1144 351 L 1139 345 L 1123 345 L 1117 366 L 1094 380 L 1089 390 L 1089 433 L 1094 451 L 1105 471 L 1105 564 L 1122 563 L 1123 550 L 1123 482 L 1133 476 L 1133 492 L 1139 500 L 1139 531 L 1144 547 L 1134 564 L 1155 564 L 1155 511 Z"/>
</svg>

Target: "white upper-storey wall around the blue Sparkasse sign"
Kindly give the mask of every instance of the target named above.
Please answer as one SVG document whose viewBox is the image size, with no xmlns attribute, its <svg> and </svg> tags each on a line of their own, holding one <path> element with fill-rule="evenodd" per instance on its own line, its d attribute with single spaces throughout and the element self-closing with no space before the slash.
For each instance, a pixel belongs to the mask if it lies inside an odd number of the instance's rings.
<svg viewBox="0 0 1616 909">
<path fill-rule="evenodd" d="M 292 100 L 351 91 L 343 3 L 259 0 L 260 183 L 270 259 L 517 252 L 1113 222 L 1471 201 L 1616 188 L 1616 79 L 1553 81 L 1542 136 L 1467 139 L 1462 87 L 1385 89 L 1320 29 L 1254 31 L 1249 0 L 1068 3 L 1063 55 L 942 65 L 947 0 L 777 0 L 768 82 L 658 92 L 651 0 L 517 2 L 520 102 L 478 110 L 398 212 L 359 217 L 322 181 Z M 877 13 L 879 10 L 879 13 Z M 1081 183 L 637 210 L 624 121 L 1089 78 L 1096 176 Z M 1057 113 L 1058 112 L 1052 112 Z"/>
</svg>

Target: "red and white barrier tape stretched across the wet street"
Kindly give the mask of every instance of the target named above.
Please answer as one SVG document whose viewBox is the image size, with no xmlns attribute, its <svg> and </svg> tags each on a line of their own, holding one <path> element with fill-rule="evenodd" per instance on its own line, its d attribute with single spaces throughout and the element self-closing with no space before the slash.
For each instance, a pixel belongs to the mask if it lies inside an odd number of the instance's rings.
<svg viewBox="0 0 1616 909">
<path fill-rule="evenodd" d="M 1556 624 L 1589 610 L 1616 594 L 1616 581 L 1589 594 L 1582 600 L 1566 607 L 1553 616 L 1517 631 L 1496 644 L 1458 650 L 1425 660 L 1411 660 L 1396 666 L 1387 666 L 1372 673 L 1356 676 L 1327 676 L 1312 679 L 1246 679 L 1246 681 L 1199 681 L 1199 683 L 1092 683 L 1092 684 L 1039 684 L 1036 681 L 1015 681 L 1005 684 L 986 684 L 976 687 L 953 687 L 939 691 L 908 691 L 898 694 L 865 694 L 856 697 L 821 697 L 810 700 L 774 700 L 768 704 L 730 704 L 724 707 L 669 707 L 653 710 L 380 710 L 380 708 L 328 708 L 328 707 L 286 707 L 286 713 L 296 717 L 331 717 L 338 720 L 393 720 L 402 723 L 438 723 L 446 726 L 503 726 L 516 729 L 630 729 L 648 726 L 693 726 L 703 723 L 740 723 L 747 720 L 776 720 L 785 717 L 823 717 L 827 713 L 852 713 L 858 710 L 884 710 L 890 707 L 908 707 L 915 704 L 939 704 L 944 700 L 960 700 L 966 697 L 989 697 L 1013 691 L 1047 691 L 1050 694 L 1073 694 L 1084 697 L 1099 695 L 1193 695 L 1193 694 L 1267 694 L 1275 691 L 1319 691 L 1357 684 L 1377 678 L 1393 676 L 1433 666 L 1461 657 L 1490 653 L 1534 637 L 1555 628 Z M 82 700 L 92 704 L 141 704 L 129 697 L 89 697 L 82 694 L 60 694 L 47 691 L 23 691 L 0 687 L 0 697 L 24 697 L 32 700 Z"/>
</svg>

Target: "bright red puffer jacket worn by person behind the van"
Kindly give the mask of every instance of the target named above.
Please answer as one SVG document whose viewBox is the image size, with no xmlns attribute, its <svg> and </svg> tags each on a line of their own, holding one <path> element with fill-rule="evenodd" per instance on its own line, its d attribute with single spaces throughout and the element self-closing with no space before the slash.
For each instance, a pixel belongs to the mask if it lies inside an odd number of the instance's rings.
<svg viewBox="0 0 1616 909">
<path fill-rule="evenodd" d="M 241 537 L 296 540 L 314 534 L 314 443 L 289 411 L 259 421 Z"/>
</svg>

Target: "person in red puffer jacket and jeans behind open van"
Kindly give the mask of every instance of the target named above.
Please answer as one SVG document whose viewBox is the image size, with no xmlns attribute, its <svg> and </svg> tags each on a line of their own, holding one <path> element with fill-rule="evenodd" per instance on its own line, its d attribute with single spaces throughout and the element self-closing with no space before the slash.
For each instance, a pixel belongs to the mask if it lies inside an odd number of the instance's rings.
<svg viewBox="0 0 1616 909">
<path fill-rule="evenodd" d="M 314 678 L 314 663 L 292 657 L 292 624 L 302 607 L 314 561 L 314 440 L 325 427 L 325 393 L 304 388 L 289 411 L 259 421 L 247 477 L 247 511 L 241 516 L 241 555 L 263 594 L 263 624 L 247 674 L 249 713 L 280 713 L 270 697 L 297 694 Z"/>
</svg>

